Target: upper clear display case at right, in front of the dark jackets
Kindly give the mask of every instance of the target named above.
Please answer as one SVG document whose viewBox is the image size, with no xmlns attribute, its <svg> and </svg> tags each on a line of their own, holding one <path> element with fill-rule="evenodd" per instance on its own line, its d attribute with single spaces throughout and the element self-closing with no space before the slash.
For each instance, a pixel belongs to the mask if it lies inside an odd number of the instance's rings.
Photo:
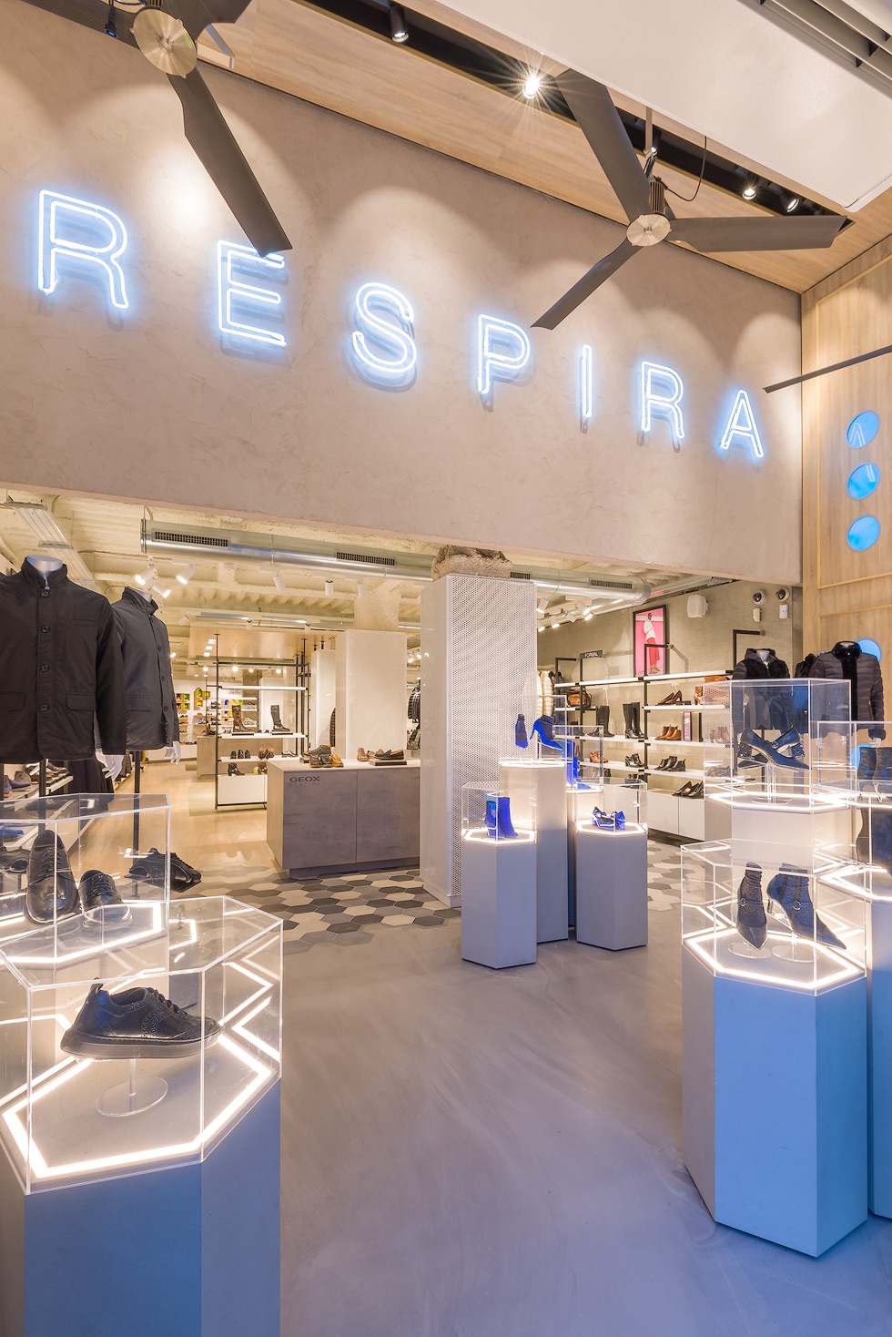
<svg viewBox="0 0 892 1337">
<path fill-rule="evenodd" d="M 808 808 L 821 767 L 841 751 L 851 687 L 821 678 L 744 679 L 704 685 L 706 797 L 724 802 Z M 824 725 L 819 735 L 819 725 Z M 836 731 L 833 730 L 836 726 Z M 828 743 L 824 757 L 819 737 Z"/>
</svg>

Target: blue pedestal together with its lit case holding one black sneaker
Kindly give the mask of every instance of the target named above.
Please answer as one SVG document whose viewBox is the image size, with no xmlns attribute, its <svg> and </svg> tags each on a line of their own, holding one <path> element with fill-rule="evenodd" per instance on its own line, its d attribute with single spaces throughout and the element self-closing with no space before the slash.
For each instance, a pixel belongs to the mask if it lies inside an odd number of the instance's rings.
<svg viewBox="0 0 892 1337">
<path fill-rule="evenodd" d="M 278 1337 L 282 924 L 128 908 L 0 949 L 0 1330 Z"/>
</svg>

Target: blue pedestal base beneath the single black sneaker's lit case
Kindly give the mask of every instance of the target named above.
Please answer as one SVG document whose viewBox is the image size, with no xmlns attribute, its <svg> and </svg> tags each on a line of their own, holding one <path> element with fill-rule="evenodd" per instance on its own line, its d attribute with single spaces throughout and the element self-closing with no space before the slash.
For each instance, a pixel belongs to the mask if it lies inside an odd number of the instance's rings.
<svg viewBox="0 0 892 1337">
<path fill-rule="evenodd" d="M 278 1083 L 202 1165 L 25 1195 L 0 1154 L 3 1337 L 279 1337 L 279 1177 Z"/>
</svg>

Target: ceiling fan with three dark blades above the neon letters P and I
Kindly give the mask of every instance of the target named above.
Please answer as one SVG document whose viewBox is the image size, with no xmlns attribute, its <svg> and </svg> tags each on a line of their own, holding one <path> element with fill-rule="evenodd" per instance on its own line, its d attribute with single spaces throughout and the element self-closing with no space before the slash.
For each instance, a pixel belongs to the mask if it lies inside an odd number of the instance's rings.
<svg viewBox="0 0 892 1337">
<path fill-rule="evenodd" d="M 594 156 L 629 219 L 625 239 L 593 265 L 569 293 L 539 316 L 534 326 L 553 330 L 642 247 L 686 242 L 698 251 L 811 250 L 829 246 L 845 222 L 836 214 L 803 218 L 676 218 L 666 187 L 652 175 L 654 156 L 642 167 L 604 84 L 565 70 L 555 83 L 589 140 Z"/>
</svg>

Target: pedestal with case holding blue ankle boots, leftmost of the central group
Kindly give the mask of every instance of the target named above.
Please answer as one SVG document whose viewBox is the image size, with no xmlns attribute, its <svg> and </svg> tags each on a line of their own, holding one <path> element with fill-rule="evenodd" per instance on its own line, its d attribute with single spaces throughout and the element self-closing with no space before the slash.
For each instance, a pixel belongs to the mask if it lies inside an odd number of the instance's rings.
<svg viewBox="0 0 892 1337">
<path fill-rule="evenodd" d="M 523 789 L 517 775 L 510 789 L 462 786 L 462 959 L 495 969 L 535 961 L 537 783 L 529 769 L 525 775 Z M 564 901 L 566 919 L 566 876 Z"/>
</svg>

